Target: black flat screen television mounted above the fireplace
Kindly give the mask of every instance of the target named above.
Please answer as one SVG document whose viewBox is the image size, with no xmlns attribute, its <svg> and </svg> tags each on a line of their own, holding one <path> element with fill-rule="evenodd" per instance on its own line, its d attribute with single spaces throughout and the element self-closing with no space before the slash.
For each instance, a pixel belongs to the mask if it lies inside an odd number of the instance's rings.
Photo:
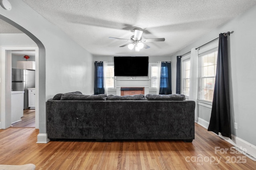
<svg viewBox="0 0 256 170">
<path fill-rule="evenodd" d="M 114 57 L 114 76 L 148 76 L 148 57 Z"/>
</svg>

